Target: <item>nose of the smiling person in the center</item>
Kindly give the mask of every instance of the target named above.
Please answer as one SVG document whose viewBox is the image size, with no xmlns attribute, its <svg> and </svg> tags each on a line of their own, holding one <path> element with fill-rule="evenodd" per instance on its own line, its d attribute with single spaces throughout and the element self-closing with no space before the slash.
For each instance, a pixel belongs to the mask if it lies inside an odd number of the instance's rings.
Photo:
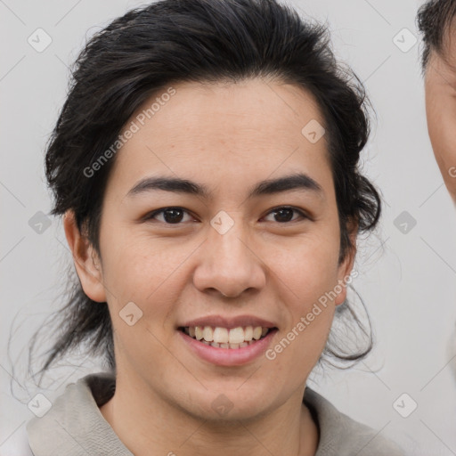
<svg viewBox="0 0 456 456">
<path fill-rule="evenodd" d="M 204 293 L 239 297 L 243 292 L 265 287 L 265 264 L 256 244 L 236 222 L 221 234 L 209 230 L 208 239 L 199 248 L 193 283 Z"/>
</svg>

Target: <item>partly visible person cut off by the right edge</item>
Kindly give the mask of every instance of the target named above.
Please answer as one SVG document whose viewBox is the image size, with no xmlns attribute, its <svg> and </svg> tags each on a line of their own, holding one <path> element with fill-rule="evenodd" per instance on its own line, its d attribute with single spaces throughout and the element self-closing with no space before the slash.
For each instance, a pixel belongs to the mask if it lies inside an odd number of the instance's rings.
<svg viewBox="0 0 456 456">
<path fill-rule="evenodd" d="M 456 205 L 456 15 L 455 0 L 430 0 L 417 15 L 423 35 L 428 133 L 446 188 Z"/>
</svg>

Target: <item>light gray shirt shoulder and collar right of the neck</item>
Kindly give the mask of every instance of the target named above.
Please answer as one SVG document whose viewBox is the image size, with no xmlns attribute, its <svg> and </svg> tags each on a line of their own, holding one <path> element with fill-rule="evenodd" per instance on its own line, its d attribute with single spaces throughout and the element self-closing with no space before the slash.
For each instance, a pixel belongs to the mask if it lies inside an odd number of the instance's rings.
<svg viewBox="0 0 456 456">
<path fill-rule="evenodd" d="M 347 416 L 306 387 L 303 402 L 313 413 L 320 428 L 320 443 L 315 456 L 404 456 L 399 446 L 370 428 Z"/>
</svg>

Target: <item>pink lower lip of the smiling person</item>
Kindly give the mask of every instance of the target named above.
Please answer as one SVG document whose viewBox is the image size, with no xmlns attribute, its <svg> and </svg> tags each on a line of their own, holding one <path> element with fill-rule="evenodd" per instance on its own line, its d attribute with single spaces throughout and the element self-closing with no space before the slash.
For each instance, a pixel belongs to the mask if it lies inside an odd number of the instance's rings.
<svg viewBox="0 0 456 456">
<path fill-rule="evenodd" d="M 261 354 L 264 354 L 267 347 L 271 345 L 274 334 L 277 330 L 270 330 L 265 338 L 260 338 L 255 343 L 242 348 L 219 348 L 210 346 L 191 338 L 181 330 L 177 332 L 188 344 L 191 350 L 198 354 L 205 361 L 216 364 L 217 366 L 239 366 L 255 360 Z"/>
</svg>

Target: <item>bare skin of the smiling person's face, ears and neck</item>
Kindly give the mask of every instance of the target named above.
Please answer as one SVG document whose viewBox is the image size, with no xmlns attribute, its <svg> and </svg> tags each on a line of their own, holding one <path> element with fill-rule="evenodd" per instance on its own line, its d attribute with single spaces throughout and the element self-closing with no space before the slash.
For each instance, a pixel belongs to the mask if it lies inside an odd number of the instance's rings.
<svg viewBox="0 0 456 456">
<path fill-rule="evenodd" d="M 345 287 L 273 361 L 261 355 L 216 366 L 193 354 L 176 327 L 206 315 L 253 314 L 277 326 L 275 345 L 346 280 L 354 250 L 338 264 L 326 138 L 313 144 L 301 134 L 311 119 L 323 124 L 322 115 L 309 94 L 278 82 L 173 86 L 176 94 L 118 151 L 103 201 L 100 256 L 71 212 L 64 218 L 82 287 L 108 303 L 114 327 L 117 389 L 102 415 L 139 456 L 151 448 L 179 456 L 314 455 L 319 432 L 302 397 Z M 248 199 L 256 183 L 296 172 L 311 176 L 322 193 Z M 212 198 L 126 196 L 152 175 L 207 185 Z M 284 205 L 311 218 L 291 212 L 282 222 L 273 209 Z M 163 213 L 142 219 L 169 207 L 187 211 L 179 224 Z M 234 222 L 223 235 L 210 224 L 220 210 Z M 130 301 L 143 313 L 134 326 L 119 317 Z M 211 407 L 220 394 L 232 402 L 223 417 Z"/>
</svg>

